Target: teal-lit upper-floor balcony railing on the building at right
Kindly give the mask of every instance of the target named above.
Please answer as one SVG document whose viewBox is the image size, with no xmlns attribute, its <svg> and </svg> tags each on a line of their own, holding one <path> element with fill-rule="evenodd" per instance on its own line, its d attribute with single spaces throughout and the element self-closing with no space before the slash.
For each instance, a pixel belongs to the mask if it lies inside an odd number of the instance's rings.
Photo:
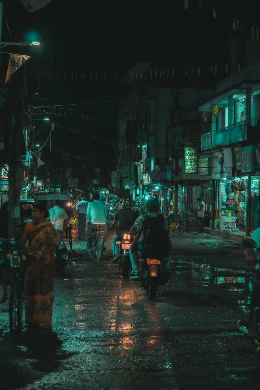
<svg viewBox="0 0 260 390">
<path fill-rule="evenodd" d="M 247 123 L 242 121 L 223 129 L 213 130 L 201 136 L 201 150 L 207 150 L 219 145 L 230 145 L 247 139 Z"/>
</svg>

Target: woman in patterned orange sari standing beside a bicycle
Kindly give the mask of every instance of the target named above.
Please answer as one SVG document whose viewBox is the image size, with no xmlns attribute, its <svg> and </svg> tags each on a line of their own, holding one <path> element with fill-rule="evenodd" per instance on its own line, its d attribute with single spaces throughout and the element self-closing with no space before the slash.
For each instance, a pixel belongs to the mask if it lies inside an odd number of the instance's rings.
<svg viewBox="0 0 260 390">
<path fill-rule="evenodd" d="M 48 215 L 46 206 L 36 203 L 32 211 L 34 221 L 27 223 L 21 239 L 23 243 L 29 240 L 29 251 L 35 252 L 35 256 L 28 259 L 25 275 L 27 283 L 25 322 L 28 327 L 50 328 L 52 324 L 55 271 L 53 252 L 61 238 L 54 226 L 45 221 Z"/>
</svg>

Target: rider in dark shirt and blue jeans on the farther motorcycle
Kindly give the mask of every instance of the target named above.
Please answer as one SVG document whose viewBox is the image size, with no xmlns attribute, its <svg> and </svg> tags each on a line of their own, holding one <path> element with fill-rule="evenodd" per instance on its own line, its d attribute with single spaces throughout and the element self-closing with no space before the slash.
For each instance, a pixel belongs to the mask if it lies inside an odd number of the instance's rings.
<svg viewBox="0 0 260 390">
<path fill-rule="evenodd" d="M 138 213 L 135 210 L 132 210 L 132 200 L 131 198 L 125 198 L 123 202 L 123 209 L 117 211 L 114 220 L 111 224 L 111 228 L 115 228 L 118 224 L 116 234 L 112 242 L 113 250 L 113 262 L 118 262 L 118 245 L 116 244 L 119 241 L 120 236 L 124 233 L 128 233 L 135 220 L 138 218 Z"/>
</svg>

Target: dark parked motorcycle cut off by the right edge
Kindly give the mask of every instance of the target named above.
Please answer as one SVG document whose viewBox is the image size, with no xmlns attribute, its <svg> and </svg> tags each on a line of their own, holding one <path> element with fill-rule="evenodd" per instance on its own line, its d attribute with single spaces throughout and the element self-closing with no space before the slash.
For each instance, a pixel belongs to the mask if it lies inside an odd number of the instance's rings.
<svg viewBox="0 0 260 390">
<path fill-rule="evenodd" d="M 257 248 L 257 244 L 250 238 L 244 238 L 242 244 L 246 248 Z M 259 261 L 258 261 L 258 265 Z M 254 348 L 260 358 L 260 267 L 256 267 L 251 276 L 250 322 L 238 321 L 239 330 L 252 339 Z"/>
</svg>

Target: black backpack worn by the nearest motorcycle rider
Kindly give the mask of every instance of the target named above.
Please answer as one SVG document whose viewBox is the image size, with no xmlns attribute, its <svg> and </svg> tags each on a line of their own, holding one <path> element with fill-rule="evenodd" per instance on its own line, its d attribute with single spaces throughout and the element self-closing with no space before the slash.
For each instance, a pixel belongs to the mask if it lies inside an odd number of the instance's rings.
<svg viewBox="0 0 260 390">
<path fill-rule="evenodd" d="M 169 236 L 164 229 L 164 217 L 144 216 L 143 221 L 144 256 L 151 259 L 164 259 L 169 255 Z"/>
</svg>

